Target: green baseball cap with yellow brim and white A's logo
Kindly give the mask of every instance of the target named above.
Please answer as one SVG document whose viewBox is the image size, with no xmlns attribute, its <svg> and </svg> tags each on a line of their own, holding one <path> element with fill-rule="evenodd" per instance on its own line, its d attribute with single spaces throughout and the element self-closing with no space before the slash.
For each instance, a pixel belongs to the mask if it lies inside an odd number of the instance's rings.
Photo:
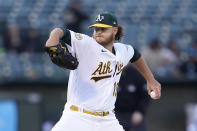
<svg viewBox="0 0 197 131">
<path fill-rule="evenodd" d="M 96 23 L 88 26 L 88 28 L 91 27 L 110 28 L 117 26 L 118 26 L 118 21 L 114 15 L 110 13 L 101 13 L 96 17 Z"/>
</svg>

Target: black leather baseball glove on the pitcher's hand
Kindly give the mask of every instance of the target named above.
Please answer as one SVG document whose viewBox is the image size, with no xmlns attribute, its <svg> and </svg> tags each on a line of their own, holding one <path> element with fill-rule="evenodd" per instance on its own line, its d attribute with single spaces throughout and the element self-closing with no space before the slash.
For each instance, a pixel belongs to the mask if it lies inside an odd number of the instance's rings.
<svg viewBox="0 0 197 131">
<path fill-rule="evenodd" d="M 68 48 L 59 43 L 57 46 L 45 47 L 45 52 L 50 56 L 51 61 L 66 69 L 74 70 L 79 62 L 76 57 L 68 51 Z"/>
</svg>

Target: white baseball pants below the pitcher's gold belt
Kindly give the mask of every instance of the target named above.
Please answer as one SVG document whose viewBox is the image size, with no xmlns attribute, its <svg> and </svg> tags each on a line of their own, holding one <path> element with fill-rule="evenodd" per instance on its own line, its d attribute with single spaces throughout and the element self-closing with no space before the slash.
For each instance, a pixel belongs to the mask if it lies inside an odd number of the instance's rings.
<svg viewBox="0 0 197 131">
<path fill-rule="evenodd" d="M 124 129 L 113 112 L 107 116 L 94 116 L 72 111 L 70 104 L 66 104 L 60 120 L 51 131 L 124 131 Z"/>
</svg>

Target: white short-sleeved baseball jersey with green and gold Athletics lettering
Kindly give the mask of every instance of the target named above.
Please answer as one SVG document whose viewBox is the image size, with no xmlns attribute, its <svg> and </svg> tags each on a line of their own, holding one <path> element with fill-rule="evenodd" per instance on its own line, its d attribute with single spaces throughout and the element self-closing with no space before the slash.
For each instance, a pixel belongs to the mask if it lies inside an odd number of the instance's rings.
<svg viewBox="0 0 197 131">
<path fill-rule="evenodd" d="M 114 43 L 113 54 L 92 37 L 70 33 L 71 51 L 79 65 L 70 72 L 67 102 L 90 111 L 113 110 L 122 69 L 133 57 L 133 47 Z"/>
</svg>

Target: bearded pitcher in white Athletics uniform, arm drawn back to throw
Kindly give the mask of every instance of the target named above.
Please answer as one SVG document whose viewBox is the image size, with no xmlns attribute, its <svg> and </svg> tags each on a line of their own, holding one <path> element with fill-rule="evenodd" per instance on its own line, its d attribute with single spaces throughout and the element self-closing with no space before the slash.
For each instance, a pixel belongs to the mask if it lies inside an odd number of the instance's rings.
<svg viewBox="0 0 197 131">
<path fill-rule="evenodd" d="M 149 95 L 154 91 L 155 99 L 161 96 L 161 85 L 141 54 L 118 42 L 123 33 L 114 15 L 99 14 L 89 28 L 94 28 L 93 37 L 55 28 L 46 42 L 52 62 L 71 70 L 67 103 L 52 131 L 124 131 L 113 110 L 119 79 L 128 62 L 146 79 Z"/>
</svg>

